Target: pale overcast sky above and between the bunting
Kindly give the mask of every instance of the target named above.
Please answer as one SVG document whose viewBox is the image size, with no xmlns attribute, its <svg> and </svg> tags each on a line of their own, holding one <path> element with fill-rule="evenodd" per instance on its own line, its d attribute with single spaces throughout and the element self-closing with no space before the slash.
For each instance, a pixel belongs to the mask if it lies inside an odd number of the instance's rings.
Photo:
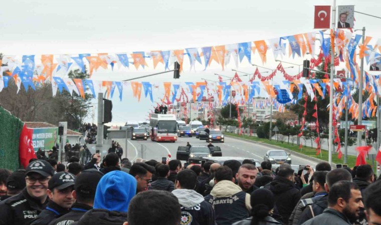
<svg viewBox="0 0 381 225">
<path fill-rule="evenodd" d="M 313 31 L 314 5 L 332 4 L 333 0 L 12 0 L 0 8 L 0 52 L 9 55 L 117 53 L 269 39 Z M 379 8 L 375 7 L 379 5 L 378 0 L 337 0 L 336 5 L 355 5 L 356 11 L 379 16 Z M 365 26 L 365 35 L 381 38 L 381 19 L 359 13 L 354 16 L 355 28 Z M 303 57 L 284 60 L 302 64 Z M 258 54 L 252 62 L 262 64 Z M 264 66 L 275 68 L 277 64 L 269 57 Z M 217 63 L 205 71 L 204 65 L 197 65 L 196 71 L 189 71 L 184 65 L 180 79 L 174 80 L 172 73 L 164 73 L 137 81 L 184 82 L 202 81 L 201 78 L 217 81 L 214 73 L 233 76 L 232 68 L 236 68 L 233 60 L 225 71 Z M 254 72 L 247 60 L 236 69 Z M 144 70 L 133 66 L 115 71 L 99 69 L 92 78 L 117 81 L 163 70 L 161 65 L 153 70 L 151 63 Z M 298 67 L 286 71 L 296 74 Z M 144 120 L 151 105 L 144 96 L 138 102 L 128 91 L 122 101 L 115 94 L 112 123 Z"/>
</svg>

